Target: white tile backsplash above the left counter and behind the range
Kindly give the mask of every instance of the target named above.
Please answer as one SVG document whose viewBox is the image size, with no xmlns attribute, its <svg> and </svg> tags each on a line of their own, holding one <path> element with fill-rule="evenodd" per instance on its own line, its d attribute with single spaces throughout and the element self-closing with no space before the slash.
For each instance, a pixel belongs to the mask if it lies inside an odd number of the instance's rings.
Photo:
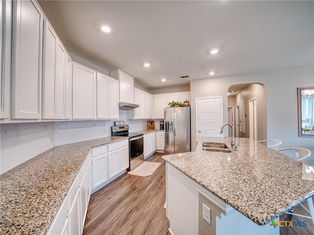
<svg viewBox="0 0 314 235">
<path fill-rule="evenodd" d="M 146 129 L 146 120 L 128 120 L 127 111 L 119 111 L 119 116 L 119 120 L 129 124 L 131 132 Z M 0 173 L 53 146 L 108 137 L 113 125 L 114 120 L 1 124 Z"/>
</svg>

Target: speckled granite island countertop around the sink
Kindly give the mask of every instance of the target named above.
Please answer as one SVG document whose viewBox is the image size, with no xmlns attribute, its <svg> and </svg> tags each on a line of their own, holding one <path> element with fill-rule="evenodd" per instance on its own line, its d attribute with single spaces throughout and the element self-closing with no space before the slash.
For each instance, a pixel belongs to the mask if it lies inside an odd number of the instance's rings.
<svg viewBox="0 0 314 235">
<path fill-rule="evenodd" d="M 202 143 L 225 142 L 231 153 L 207 152 Z M 314 195 L 314 174 L 265 145 L 245 138 L 202 137 L 195 152 L 162 156 L 196 183 L 259 225 Z"/>
</svg>

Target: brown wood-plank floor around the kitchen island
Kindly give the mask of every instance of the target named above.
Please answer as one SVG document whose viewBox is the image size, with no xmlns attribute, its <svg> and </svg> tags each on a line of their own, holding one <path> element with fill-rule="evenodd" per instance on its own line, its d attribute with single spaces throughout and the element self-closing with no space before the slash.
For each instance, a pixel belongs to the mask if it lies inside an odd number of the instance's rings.
<svg viewBox="0 0 314 235">
<path fill-rule="evenodd" d="M 169 235 L 162 155 L 155 153 L 146 160 L 161 163 L 151 176 L 124 174 L 91 196 L 83 235 Z M 304 209 L 298 206 L 294 212 Z M 284 214 L 280 220 L 307 221 L 306 227 L 280 228 L 280 235 L 314 235 L 310 219 Z"/>
</svg>

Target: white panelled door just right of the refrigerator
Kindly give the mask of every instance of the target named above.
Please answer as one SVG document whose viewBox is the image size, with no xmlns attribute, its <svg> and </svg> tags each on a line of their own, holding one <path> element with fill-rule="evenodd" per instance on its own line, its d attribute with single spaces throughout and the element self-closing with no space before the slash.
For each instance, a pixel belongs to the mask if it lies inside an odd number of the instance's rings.
<svg viewBox="0 0 314 235">
<path fill-rule="evenodd" d="M 220 137 L 222 96 L 196 98 L 197 140 L 199 137 Z"/>
</svg>

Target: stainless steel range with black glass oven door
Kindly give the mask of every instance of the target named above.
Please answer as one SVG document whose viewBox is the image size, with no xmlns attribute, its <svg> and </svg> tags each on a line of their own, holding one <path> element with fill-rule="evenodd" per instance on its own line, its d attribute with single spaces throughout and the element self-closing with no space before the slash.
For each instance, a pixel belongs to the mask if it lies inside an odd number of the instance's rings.
<svg viewBox="0 0 314 235">
<path fill-rule="evenodd" d="M 144 162 L 144 135 L 141 133 L 130 133 L 129 125 L 111 126 L 111 136 L 129 137 L 129 159 L 128 171 Z"/>
</svg>

